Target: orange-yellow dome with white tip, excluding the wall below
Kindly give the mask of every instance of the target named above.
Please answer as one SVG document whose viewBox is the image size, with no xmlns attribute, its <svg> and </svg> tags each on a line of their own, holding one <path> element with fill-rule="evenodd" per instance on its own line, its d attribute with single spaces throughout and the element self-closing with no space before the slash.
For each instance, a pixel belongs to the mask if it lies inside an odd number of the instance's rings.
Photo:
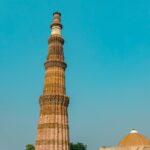
<svg viewBox="0 0 150 150">
<path fill-rule="evenodd" d="M 131 132 L 126 135 L 119 143 L 121 147 L 128 147 L 128 146 L 150 146 L 150 140 L 142 135 L 139 134 L 136 130 L 131 130 Z"/>
</svg>

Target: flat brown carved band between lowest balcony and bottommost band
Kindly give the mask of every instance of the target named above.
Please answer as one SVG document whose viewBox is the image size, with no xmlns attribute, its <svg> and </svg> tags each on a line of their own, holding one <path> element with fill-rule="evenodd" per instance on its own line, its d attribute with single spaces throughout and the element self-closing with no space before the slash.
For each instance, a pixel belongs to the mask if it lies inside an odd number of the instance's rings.
<svg viewBox="0 0 150 150">
<path fill-rule="evenodd" d="M 45 128 L 62 128 L 62 129 L 69 129 L 68 125 L 60 124 L 60 123 L 44 123 L 39 124 L 38 129 L 45 129 Z"/>
</svg>

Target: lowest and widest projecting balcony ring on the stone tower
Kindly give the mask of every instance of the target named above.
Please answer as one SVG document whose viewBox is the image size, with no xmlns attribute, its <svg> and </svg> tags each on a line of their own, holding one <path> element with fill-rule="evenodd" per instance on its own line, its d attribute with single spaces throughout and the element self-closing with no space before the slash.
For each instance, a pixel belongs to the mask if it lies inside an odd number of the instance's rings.
<svg viewBox="0 0 150 150">
<path fill-rule="evenodd" d="M 65 95 L 44 95 L 40 97 L 40 105 L 56 104 L 68 106 L 69 97 Z"/>
</svg>

